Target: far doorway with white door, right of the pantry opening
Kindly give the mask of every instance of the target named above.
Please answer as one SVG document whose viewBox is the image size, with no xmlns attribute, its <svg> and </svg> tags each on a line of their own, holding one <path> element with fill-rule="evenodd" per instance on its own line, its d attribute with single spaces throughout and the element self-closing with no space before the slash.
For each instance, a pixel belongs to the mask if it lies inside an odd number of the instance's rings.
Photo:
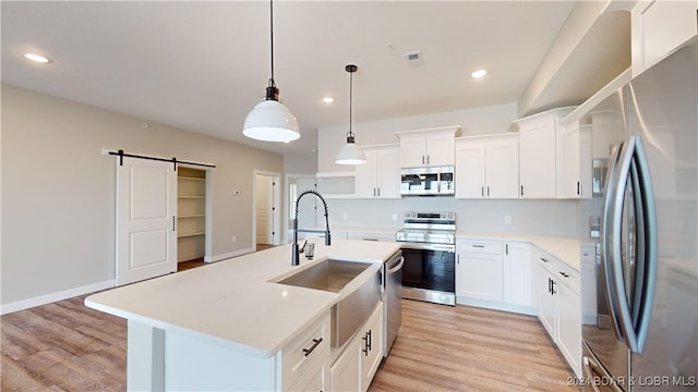
<svg viewBox="0 0 698 392">
<path fill-rule="evenodd" d="M 280 244 L 280 175 L 254 174 L 254 246 Z"/>
</svg>

